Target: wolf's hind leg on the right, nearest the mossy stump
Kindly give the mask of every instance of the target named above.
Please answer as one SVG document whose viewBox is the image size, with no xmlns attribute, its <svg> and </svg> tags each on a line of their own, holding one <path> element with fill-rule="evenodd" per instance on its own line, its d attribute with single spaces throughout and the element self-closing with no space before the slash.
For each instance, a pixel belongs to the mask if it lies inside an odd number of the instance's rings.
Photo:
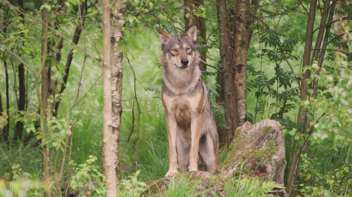
<svg viewBox="0 0 352 197">
<path fill-rule="evenodd" d="M 199 153 L 205 162 L 206 169 L 209 173 L 214 174 L 218 169 L 218 158 L 216 144 L 210 133 L 205 133 L 199 142 Z"/>
</svg>

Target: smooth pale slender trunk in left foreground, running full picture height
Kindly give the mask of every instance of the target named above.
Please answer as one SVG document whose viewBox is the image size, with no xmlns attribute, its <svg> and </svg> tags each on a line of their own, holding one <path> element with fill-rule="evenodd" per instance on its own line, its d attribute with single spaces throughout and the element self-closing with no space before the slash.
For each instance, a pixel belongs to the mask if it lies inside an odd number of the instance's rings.
<svg viewBox="0 0 352 197">
<path fill-rule="evenodd" d="M 111 5 L 109 0 L 99 0 L 102 8 L 103 24 L 103 171 L 107 196 L 116 196 L 116 145 L 117 139 L 113 133 L 112 120 L 112 77 L 111 77 Z M 116 125 L 114 125 L 116 127 Z"/>
</svg>

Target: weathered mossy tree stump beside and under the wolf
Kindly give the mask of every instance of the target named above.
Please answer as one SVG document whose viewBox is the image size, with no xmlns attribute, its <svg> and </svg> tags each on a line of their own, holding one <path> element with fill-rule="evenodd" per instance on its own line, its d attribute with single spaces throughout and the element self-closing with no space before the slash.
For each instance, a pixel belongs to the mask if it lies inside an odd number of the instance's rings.
<svg viewBox="0 0 352 197">
<path fill-rule="evenodd" d="M 224 194 L 224 180 L 231 179 L 241 166 L 244 173 L 242 176 L 259 176 L 283 185 L 285 165 L 285 137 L 281 126 L 277 121 L 263 120 L 255 125 L 246 122 L 237 128 L 218 174 L 211 175 L 204 171 L 186 173 L 191 174 L 193 178 L 200 178 L 199 185 L 203 188 Z M 169 181 L 170 178 L 166 177 L 148 182 L 151 186 L 148 195 L 162 196 Z M 285 189 L 274 189 L 270 195 L 285 196 Z"/>
</svg>

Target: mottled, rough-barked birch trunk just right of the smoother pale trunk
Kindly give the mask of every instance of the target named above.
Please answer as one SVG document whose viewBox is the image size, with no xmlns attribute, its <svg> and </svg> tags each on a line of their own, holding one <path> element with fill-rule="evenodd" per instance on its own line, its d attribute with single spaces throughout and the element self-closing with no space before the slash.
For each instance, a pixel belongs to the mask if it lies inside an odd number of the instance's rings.
<svg viewBox="0 0 352 197">
<path fill-rule="evenodd" d="M 119 136 L 120 136 L 120 124 L 122 114 L 122 60 L 124 52 L 122 46 L 118 46 L 118 41 L 124 37 L 122 28 L 125 26 L 125 7 L 121 1 L 116 1 L 113 9 L 112 17 L 112 37 L 111 37 L 111 48 L 110 48 L 110 60 L 111 60 L 111 80 L 112 80 L 112 125 L 113 125 L 113 146 L 115 147 L 114 152 L 114 165 L 117 181 L 119 180 Z"/>
</svg>

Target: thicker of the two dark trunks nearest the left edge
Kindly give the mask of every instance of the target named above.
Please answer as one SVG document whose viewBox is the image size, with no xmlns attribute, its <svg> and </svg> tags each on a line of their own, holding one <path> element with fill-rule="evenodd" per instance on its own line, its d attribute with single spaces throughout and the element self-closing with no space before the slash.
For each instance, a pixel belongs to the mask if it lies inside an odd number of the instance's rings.
<svg viewBox="0 0 352 197">
<path fill-rule="evenodd" d="M 17 4 L 20 6 L 20 8 L 23 9 L 23 0 L 19 0 Z M 24 15 L 21 13 L 20 16 L 22 18 L 22 23 L 24 23 Z M 23 33 L 21 33 L 21 36 L 23 37 Z M 18 70 L 19 70 L 19 102 L 17 103 L 17 108 L 19 111 L 24 111 L 26 106 L 26 83 L 25 83 L 25 74 L 24 74 L 25 69 L 22 63 L 19 64 Z M 20 116 L 22 117 L 21 114 Z M 16 123 L 13 139 L 21 140 L 22 133 L 23 133 L 23 122 L 19 121 Z"/>
</svg>

